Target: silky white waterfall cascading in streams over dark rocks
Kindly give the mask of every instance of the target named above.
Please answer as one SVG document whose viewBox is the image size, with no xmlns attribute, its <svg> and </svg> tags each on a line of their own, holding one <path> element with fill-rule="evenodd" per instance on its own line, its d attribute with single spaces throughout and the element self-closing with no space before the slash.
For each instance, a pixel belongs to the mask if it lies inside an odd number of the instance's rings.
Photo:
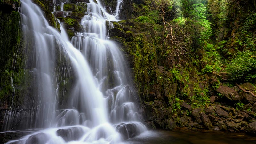
<svg viewBox="0 0 256 144">
<path fill-rule="evenodd" d="M 125 60 L 108 40 L 106 21 L 113 28 L 109 21 L 117 20 L 116 12 L 110 15 L 100 1 L 89 0 L 81 20 L 83 32 L 72 38 L 76 49 L 62 26 L 59 33 L 36 4 L 21 0 L 22 29 L 36 77 L 36 116 L 31 127 L 45 129 L 8 143 L 120 143 L 146 130 L 138 122 Z M 63 66 L 56 62 L 58 52 Z M 68 61 L 71 66 L 64 68 Z M 59 84 L 70 75 L 75 80 L 68 104 L 58 109 Z"/>
</svg>

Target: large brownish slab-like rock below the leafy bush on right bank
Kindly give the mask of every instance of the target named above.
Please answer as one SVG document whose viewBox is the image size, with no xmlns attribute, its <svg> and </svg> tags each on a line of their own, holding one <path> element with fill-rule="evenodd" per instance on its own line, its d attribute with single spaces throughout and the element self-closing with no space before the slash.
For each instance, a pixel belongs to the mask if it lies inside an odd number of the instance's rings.
<svg viewBox="0 0 256 144">
<path fill-rule="evenodd" d="M 241 96 L 234 90 L 234 88 L 230 88 L 227 86 L 220 86 L 217 92 L 221 93 L 224 97 L 228 98 L 229 100 L 238 101 L 241 100 Z"/>
</svg>

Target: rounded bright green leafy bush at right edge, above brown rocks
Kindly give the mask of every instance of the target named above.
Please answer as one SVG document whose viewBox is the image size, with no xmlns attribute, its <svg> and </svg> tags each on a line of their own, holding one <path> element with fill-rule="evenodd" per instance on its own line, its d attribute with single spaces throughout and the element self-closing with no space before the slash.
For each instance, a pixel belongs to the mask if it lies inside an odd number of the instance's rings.
<svg viewBox="0 0 256 144">
<path fill-rule="evenodd" d="M 256 74 L 255 70 L 256 54 L 249 51 L 237 52 L 237 55 L 231 59 L 226 67 L 232 81 L 244 81 L 248 76 L 253 78 Z"/>
</svg>

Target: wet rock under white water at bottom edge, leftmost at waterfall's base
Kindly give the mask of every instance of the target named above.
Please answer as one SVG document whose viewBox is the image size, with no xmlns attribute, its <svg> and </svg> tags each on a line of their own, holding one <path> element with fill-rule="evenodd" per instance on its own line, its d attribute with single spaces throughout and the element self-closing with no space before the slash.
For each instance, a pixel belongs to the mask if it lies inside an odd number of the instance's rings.
<svg viewBox="0 0 256 144">
<path fill-rule="evenodd" d="M 48 141 L 48 136 L 41 132 L 35 135 L 31 135 L 25 142 L 25 144 L 45 144 Z"/>
</svg>

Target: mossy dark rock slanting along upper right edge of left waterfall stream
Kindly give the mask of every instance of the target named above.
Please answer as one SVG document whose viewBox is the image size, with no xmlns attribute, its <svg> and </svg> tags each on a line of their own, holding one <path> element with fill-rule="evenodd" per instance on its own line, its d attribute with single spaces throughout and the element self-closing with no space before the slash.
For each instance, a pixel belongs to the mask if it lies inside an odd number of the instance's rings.
<svg viewBox="0 0 256 144">
<path fill-rule="evenodd" d="M 50 12 L 39 0 L 34 0 L 34 2 L 43 10 L 49 24 L 60 31 L 60 24 L 58 23 L 56 17 L 52 14 L 52 12 Z"/>
</svg>

